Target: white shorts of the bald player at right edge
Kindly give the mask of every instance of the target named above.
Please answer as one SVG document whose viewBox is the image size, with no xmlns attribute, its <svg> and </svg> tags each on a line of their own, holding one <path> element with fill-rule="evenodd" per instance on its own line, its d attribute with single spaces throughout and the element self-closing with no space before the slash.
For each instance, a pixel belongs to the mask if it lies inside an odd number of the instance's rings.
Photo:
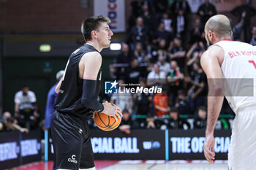
<svg viewBox="0 0 256 170">
<path fill-rule="evenodd" d="M 256 109 L 236 114 L 228 166 L 230 170 L 256 170 Z"/>
</svg>

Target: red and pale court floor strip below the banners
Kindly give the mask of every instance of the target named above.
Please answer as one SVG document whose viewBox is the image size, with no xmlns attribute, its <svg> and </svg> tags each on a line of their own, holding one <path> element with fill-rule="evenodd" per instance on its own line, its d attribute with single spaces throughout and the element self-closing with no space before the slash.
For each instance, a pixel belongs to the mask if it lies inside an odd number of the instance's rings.
<svg viewBox="0 0 256 170">
<path fill-rule="evenodd" d="M 97 170 L 227 170 L 227 161 L 95 161 Z M 52 170 L 53 162 L 37 162 L 11 170 Z"/>
</svg>

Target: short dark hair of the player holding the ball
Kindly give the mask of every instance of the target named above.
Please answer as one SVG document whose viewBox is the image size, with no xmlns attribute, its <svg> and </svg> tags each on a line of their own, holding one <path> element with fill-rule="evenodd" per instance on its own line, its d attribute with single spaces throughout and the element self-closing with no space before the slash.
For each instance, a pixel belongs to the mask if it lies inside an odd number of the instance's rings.
<svg viewBox="0 0 256 170">
<path fill-rule="evenodd" d="M 91 40 L 91 31 L 97 30 L 100 26 L 100 23 L 110 23 L 110 19 L 103 16 L 93 16 L 83 20 L 81 31 L 83 38 L 88 41 Z"/>
</svg>

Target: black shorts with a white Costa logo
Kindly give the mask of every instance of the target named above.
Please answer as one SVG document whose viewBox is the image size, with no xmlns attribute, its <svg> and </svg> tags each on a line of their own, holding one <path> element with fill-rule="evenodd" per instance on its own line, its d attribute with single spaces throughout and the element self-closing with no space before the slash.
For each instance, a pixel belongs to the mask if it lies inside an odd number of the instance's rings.
<svg viewBox="0 0 256 170">
<path fill-rule="evenodd" d="M 56 169 L 94 167 L 91 136 L 86 119 L 55 111 L 50 123 Z"/>
</svg>

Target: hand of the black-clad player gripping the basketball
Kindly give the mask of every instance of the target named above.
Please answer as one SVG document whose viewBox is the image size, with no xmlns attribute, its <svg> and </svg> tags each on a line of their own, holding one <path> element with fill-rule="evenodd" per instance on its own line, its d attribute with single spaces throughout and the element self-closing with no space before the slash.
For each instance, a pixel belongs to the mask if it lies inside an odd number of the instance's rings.
<svg viewBox="0 0 256 170">
<path fill-rule="evenodd" d="M 103 103 L 103 106 L 104 109 L 102 113 L 114 117 L 116 121 L 118 121 L 117 118 L 121 120 L 121 117 L 123 117 L 123 114 L 121 113 L 121 109 L 119 107 L 108 104 L 108 101 L 105 101 L 105 103 Z"/>
</svg>

